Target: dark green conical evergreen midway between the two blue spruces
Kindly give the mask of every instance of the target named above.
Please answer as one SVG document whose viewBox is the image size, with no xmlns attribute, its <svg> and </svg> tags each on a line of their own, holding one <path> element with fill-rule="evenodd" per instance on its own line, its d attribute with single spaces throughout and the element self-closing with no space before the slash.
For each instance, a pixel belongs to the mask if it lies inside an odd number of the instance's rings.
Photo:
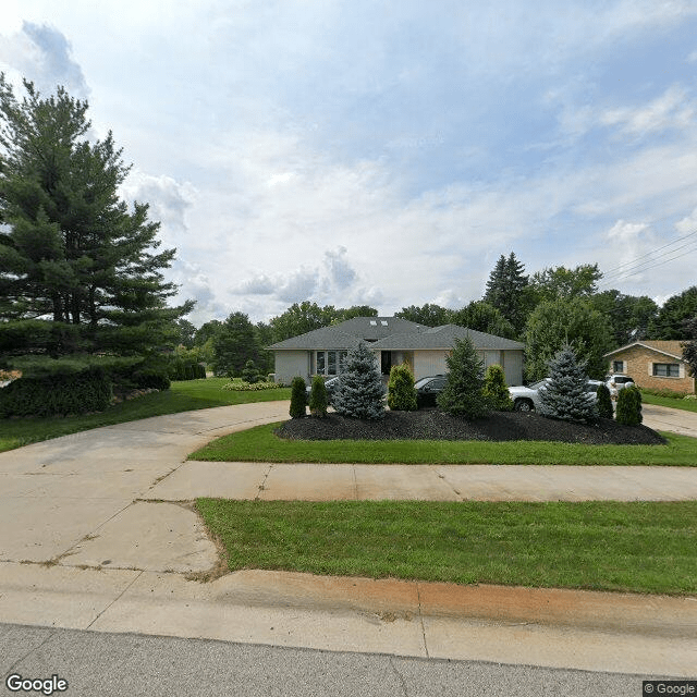
<svg viewBox="0 0 697 697">
<path fill-rule="evenodd" d="M 448 382 L 438 395 L 438 406 L 447 414 L 469 419 L 487 416 L 491 403 L 481 392 L 484 360 L 469 338 L 455 340 L 455 346 L 445 358 Z"/>
</svg>

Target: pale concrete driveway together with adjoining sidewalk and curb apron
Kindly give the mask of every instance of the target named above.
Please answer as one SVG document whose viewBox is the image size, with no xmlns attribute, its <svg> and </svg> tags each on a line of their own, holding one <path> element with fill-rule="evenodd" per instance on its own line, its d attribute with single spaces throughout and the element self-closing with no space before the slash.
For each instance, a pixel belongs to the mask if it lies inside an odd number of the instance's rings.
<svg viewBox="0 0 697 697">
<path fill-rule="evenodd" d="M 210 583 L 195 497 L 697 499 L 697 468 L 186 462 L 288 417 L 258 403 L 110 426 L 0 454 L 0 622 L 334 650 L 689 675 L 694 598 L 244 571 Z"/>
</svg>

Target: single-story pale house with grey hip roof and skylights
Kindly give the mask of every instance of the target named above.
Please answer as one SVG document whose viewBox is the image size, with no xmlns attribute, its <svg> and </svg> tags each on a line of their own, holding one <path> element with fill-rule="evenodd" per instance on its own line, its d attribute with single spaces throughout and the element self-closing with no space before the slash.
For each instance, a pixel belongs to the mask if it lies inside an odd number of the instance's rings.
<svg viewBox="0 0 697 697">
<path fill-rule="evenodd" d="M 382 375 L 393 365 L 406 364 L 419 378 L 447 372 L 445 357 L 456 339 L 469 337 L 485 363 L 503 367 L 509 384 L 523 383 L 523 344 L 466 327 L 424 327 L 399 317 L 354 317 L 281 341 L 268 350 L 276 359 L 277 382 L 296 377 L 309 382 L 315 375 L 340 375 L 346 353 L 362 341 L 379 360 Z"/>
</svg>

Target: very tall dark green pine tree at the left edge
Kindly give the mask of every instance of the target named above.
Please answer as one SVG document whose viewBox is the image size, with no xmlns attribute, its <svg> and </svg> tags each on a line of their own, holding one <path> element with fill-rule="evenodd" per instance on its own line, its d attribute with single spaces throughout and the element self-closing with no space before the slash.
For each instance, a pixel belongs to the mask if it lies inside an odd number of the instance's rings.
<svg viewBox="0 0 697 697">
<path fill-rule="evenodd" d="M 0 333 L 8 320 L 39 320 L 13 354 L 144 353 L 174 344 L 175 321 L 193 303 L 166 301 L 176 286 L 162 270 L 174 249 L 155 253 L 159 223 L 148 206 L 119 199 L 130 168 L 111 133 L 87 139 L 87 102 L 59 87 L 42 98 L 32 83 L 19 101 L 0 74 Z M 50 317 L 50 319 L 46 319 Z M 38 332 L 42 334 L 42 331 Z"/>
</svg>

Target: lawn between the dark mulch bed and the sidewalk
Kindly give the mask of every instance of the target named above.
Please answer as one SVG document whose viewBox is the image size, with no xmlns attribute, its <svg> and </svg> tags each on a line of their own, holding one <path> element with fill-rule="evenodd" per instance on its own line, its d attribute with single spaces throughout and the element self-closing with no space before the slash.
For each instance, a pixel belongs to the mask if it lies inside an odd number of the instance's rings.
<svg viewBox="0 0 697 697">
<path fill-rule="evenodd" d="M 279 424 L 224 436 L 189 455 L 221 462 L 494 465 L 697 465 L 697 439 L 662 433 L 668 445 L 583 445 L 543 441 L 285 440 Z"/>
</svg>

